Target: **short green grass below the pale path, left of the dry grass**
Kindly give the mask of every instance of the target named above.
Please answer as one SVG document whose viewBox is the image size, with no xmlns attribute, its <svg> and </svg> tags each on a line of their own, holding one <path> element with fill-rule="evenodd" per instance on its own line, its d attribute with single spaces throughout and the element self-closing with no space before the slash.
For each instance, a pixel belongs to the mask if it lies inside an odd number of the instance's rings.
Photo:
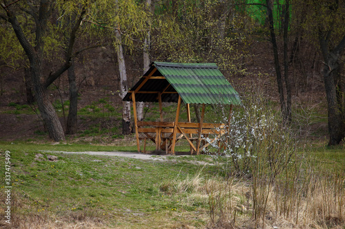
<svg viewBox="0 0 345 229">
<path fill-rule="evenodd" d="M 1 151 L 1 164 L 3 155 Z M 47 160 L 47 155 L 56 155 L 58 161 Z M 188 188 L 172 193 L 164 188 L 166 181 L 179 182 L 198 173 L 195 164 L 30 149 L 11 149 L 11 164 L 12 219 L 19 228 L 78 223 L 101 228 L 200 228 L 207 221 L 206 199 L 190 198 L 193 190 Z M 3 209 L 0 214 L 2 220 Z"/>
</svg>

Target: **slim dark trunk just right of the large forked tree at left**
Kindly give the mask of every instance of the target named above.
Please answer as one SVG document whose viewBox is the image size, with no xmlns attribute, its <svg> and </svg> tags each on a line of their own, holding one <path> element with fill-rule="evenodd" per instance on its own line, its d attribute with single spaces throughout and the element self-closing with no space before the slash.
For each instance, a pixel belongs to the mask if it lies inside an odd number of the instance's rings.
<svg viewBox="0 0 345 229">
<path fill-rule="evenodd" d="M 70 91 L 70 107 L 66 123 L 66 133 L 77 133 L 77 109 L 78 109 L 78 89 L 75 83 L 75 63 L 72 62 L 68 69 L 68 87 Z"/>
</svg>

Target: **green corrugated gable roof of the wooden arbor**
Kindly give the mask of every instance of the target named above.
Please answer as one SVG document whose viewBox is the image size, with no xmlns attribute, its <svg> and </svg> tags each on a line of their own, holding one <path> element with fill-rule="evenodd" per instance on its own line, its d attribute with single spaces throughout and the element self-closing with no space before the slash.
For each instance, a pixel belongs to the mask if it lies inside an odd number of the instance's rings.
<svg viewBox="0 0 345 229">
<path fill-rule="evenodd" d="M 154 62 L 144 76 L 149 76 L 155 68 L 158 71 L 152 76 L 164 76 L 168 83 L 157 80 L 147 80 L 146 85 L 142 85 L 143 78 L 132 87 L 131 91 L 137 89 L 136 100 L 152 101 L 149 94 L 140 94 L 143 91 L 177 91 L 185 103 L 197 104 L 221 104 L 221 105 L 239 105 L 241 100 L 235 89 L 228 83 L 228 80 L 221 74 L 215 63 L 166 63 Z M 169 85 L 170 84 L 170 85 Z M 168 86 L 167 86 L 168 85 Z M 171 87 L 170 87 L 171 86 Z M 141 87 L 138 89 L 138 87 Z M 169 89 L 170 87 L 170 89 Z M 144 92 L 143 92 L 144 93 Z M 129 93 L 128 93 L 129 94 Z M 140 98 L 140 95 L 144 99 Z M 175 96 L 178 95 L 175 94 Z M 156 96 L 157 97 L 157 96 Z M 176 102 L 176 98 L 170 95 L 165 97 L 166 102 Z M 130 100 L 126 96 L 124 100 Z"/>
</svg>

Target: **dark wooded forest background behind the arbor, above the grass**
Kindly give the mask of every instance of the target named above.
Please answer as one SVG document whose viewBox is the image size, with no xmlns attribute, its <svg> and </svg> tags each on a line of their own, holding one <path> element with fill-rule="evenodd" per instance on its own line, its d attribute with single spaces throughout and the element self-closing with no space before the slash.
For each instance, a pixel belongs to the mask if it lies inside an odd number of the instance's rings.
<svg viewBox="0 0 345 229">
<path fill-rule="evenodd" d="M 343 1 L 2 1 L 0 138 L 124 138 L 121 98 L 167 61 L 217 63 L 242 97 L 263 95 L 304 137 L 342 144 L 344 15 Z"/>
</svg>

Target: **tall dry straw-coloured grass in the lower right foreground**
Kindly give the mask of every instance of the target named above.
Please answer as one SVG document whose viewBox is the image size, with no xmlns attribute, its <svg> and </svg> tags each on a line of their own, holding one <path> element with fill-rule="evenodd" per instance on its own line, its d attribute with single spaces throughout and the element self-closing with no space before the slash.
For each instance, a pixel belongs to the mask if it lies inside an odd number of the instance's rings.
<svg viewBox="0 0 345 229">
<path fill-rule="evenodd" d="M 262 187 L 268 199 L 264 219 L 259 221 L 255 220 L 251 179 L 196 175 L 170 185 L 193 186 L 189 198 L 208 206 L 206 228 L 344 228 L 344 174 L 308 173 L 295 183 L 277 180 L 270 188 Z M 184 190 L 175 189 L 175 194 Z"/>
</svg>

